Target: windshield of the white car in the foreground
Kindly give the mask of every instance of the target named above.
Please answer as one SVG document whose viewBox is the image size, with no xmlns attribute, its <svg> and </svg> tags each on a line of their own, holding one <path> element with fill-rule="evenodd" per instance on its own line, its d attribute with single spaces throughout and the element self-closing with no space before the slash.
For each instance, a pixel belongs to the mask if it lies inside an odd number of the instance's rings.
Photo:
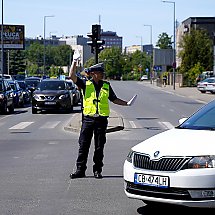
<svg viewBox="0 0 215 215">
<path fill-rule="evenodd" d="M 215 130 L 215 100 L 203 106 L 177 128 Z"/>
</svg>

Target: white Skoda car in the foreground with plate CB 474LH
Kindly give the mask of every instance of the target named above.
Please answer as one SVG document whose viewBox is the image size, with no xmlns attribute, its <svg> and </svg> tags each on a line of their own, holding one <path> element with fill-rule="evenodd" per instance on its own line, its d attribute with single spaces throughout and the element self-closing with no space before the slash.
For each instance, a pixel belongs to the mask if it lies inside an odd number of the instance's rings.
<svg viewBox="0 0 215 215">
<path fill-rule="evenodd" d="M 124 162 L 127 197 L 215 208 L 215 100 L 135 145 Z"/>
</svg>

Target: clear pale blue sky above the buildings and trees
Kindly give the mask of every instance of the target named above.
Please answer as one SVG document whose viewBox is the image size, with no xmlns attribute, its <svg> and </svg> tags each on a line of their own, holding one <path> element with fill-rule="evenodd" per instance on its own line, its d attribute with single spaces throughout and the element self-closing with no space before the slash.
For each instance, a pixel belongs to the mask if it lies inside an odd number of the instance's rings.
<svg viewBox="0 0 215 215">
<path fill-rule="evenodd" d="M 214 17 L 215 0 L 175 0 L 175 19 Z M 74 36 L 91 32 L 94 24 L 123 37 L 123 47 L 155 46 L 159 35 L 174 32 L 174 3 L 161 0 L 1 0 L 3 23 L 24 25 L 25 37 Z M 0 7 L 1 7 L 0 5 Z M 2 7 L 0 11 L 2 23 Z M 152 34 L 151 34 L 152 29 Z"/>
</svg>

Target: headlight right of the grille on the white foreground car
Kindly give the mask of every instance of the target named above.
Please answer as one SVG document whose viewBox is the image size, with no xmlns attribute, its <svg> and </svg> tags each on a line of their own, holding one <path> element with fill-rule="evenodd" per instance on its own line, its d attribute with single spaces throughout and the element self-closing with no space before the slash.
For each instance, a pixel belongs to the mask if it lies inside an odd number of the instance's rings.
<svg viewBox="0 0 215 215">
<path fill-rule="evenodd" d="M 215 168 L 215 155 L 206 155 L 192 158 L 188 163 L 189 169 Z"/>
</svg>

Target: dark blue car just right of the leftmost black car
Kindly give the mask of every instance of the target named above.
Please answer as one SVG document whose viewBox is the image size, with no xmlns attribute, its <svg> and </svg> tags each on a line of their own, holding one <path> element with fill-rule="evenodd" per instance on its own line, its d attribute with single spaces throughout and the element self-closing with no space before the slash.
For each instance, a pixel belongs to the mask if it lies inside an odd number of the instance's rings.
<svg viewBox="0 0 215 215">
<path fill-rule="evenodd" d="M 11 88 L 13 89 L 13 93 L 14 93 L 14 106 L 15 107 L 23 107 L 24 106 L 24 95 L 23 95 L 23 90 L 22 88 L 19 86 L 18 82 L 16 80 L 8 81 Z"/>
</svg>

